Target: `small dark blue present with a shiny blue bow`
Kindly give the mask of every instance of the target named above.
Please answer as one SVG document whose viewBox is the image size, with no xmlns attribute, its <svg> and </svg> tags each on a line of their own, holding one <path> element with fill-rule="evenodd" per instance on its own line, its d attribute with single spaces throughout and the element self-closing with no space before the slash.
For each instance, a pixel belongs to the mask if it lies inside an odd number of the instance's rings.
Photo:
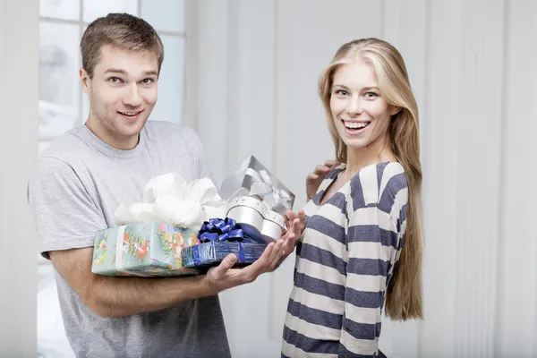
<svg viewBox="0 0 537 358">
<path fill-rule="evenodd" d="M 229 217 L 212 218 L 201 226 L 200 243 L 182 251 L 183 267 L 203 270 L 219 264 L 230 253 L 237 257 L 235 266 L 246 266 L 258 260 L 267 247 L 255 243 L 243 233 L 241 225 Z"/>
</svg>

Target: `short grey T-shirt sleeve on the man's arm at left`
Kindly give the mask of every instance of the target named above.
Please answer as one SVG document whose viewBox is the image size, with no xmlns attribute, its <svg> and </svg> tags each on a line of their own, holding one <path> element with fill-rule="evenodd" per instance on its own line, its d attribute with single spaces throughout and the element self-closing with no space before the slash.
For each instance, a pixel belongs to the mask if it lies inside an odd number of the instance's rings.
<svg viewBox="0 0 537 358">
<path fill-rule="evenodd" d="M 38 234 L 39 252 L 93 246 L 107 223 L 98 204 L 72 166 L 58 158 L 39 158 L 32 167 L 28 200 Z"/>
</svg>

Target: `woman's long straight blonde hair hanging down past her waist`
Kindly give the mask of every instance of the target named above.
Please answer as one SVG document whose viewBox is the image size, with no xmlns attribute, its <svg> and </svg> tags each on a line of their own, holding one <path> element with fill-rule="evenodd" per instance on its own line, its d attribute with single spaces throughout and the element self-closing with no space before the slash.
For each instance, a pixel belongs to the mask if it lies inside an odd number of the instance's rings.
<svg viewBox="0 0 537 358">
<path fill-rule="evenodd" d="M 334 73 L 342 64 L 357 58 L 370 64 L 377 75 L 380 93 L 388 104 L 402 108 L 391 118 L 390 144 L 397 161 L 405 168 L 408 208 L 405 242 L 386 293 L 386 314 L 392 320 L 422 319 L 422 166 L 418 106 L 408 80 L 405 62 L 395 47 L 378 38 L 362 38 L 337 50 L 332 63 L 322 73 L 319 95 L 326 111 L 328 128 L 336 145 L 336 158 L 347 160 L 347 148 L 337 134 L 330 110 Z"/>
</svg>

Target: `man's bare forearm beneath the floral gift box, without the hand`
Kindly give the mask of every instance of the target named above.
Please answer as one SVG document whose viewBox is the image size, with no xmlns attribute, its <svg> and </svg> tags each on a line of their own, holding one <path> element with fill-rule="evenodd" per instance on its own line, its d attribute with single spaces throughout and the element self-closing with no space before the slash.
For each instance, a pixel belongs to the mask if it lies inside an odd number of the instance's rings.
<svg viewBox="0 0 537 358">
<path fill-rule="evenodd" d="M 177 303 L 217 294 L 196 277 L 97 277 L 90 309 L 102 317 L 122 317 L 158 311 Z"/>
</svg>

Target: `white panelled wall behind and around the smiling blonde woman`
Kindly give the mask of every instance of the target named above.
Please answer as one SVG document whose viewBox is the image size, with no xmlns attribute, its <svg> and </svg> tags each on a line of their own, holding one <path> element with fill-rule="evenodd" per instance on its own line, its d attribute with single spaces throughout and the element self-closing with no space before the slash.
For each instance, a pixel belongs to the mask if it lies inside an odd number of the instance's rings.
<svg viewBox="0 0 537 358">
<path fill-rule="evenodd" d="M 333 156 L 323 66 L 353 38 L 404 55 L 422 115 L 426 320 L 387 321 L 388 356 L 537 355 L 536 17 L 529 1 L 201 2 L 193 123 L 215 176 L 253 154 L 297 208 L 307 173 Z M 292 264 L 224 295 L 235 357 L 277 355 Z"/>
</svg>

